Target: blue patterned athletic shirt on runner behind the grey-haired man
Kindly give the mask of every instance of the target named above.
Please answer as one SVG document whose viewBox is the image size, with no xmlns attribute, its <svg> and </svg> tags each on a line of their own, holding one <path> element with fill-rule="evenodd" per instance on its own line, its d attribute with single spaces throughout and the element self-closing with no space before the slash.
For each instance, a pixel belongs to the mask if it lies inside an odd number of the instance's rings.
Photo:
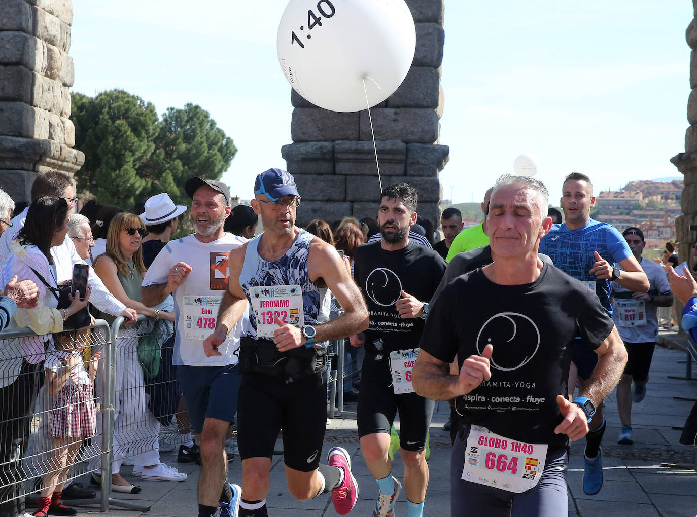
<svg viewBox="0 0 697 517">
<path fill-rule="evenodd" d="M 599 280 L 589 273 L 598 252 L 608 263 L 614 264 L 631 256 L 627 241 L 614 226 L 588 220 L 588 224 L 569 230 L 566 223 L 554 224 L 551 231 L 539 241 L 539 252 L 548 255 L 557 268 L 581 281 L 595 281 L 595 294 L 609 316 L 612 316 L 610 293 L 612 282 Z"/>
</svg>

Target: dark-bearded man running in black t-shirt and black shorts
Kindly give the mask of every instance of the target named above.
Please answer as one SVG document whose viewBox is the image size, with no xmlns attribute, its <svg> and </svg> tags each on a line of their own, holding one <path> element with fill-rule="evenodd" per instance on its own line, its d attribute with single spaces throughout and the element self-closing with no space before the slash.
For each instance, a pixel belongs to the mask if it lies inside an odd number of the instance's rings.
<svg viewBox="0 0 697 517">
<path fill-rule="evenodd" d="M 392 516 L 401 483 L 392 477 L 388 457 L 390 429 L 399 410 L 400 456 L 408 517 L 422 515 L 429 470 L 426 439 L 434 402 L 416 394 L 411 369 L 445 261 L 432 249 L 409 240 L 416 222 L 418 193 L 407 184 L 380 194 L 378 223 L 382 239 L 355 250 L 354 279 L 370 315 L 358 394 L 358 435 L 368 469 L 380 488 L 374 515 Z"/>
</svg>

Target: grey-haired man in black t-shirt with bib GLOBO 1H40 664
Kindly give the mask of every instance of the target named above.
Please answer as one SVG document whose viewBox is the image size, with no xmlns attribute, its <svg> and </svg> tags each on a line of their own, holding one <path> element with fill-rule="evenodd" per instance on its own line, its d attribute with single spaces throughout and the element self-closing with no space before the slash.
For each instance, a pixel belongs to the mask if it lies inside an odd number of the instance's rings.
<svg viewBox="0 0 697 517">
<path fill-rule="evenodd" d="M 434 400 L 457 397 L 452 516 L 565 516 L 567 440 L 588 433 L 594 404 L 627 361 L 595 294 L 537 256 L 551 228 L 548 198 L 532 178 L 498 179 L 487 216 L 496 261 L 452 281 L 424 328 L 415 388 Z M 599 360 L 571 403 L 569 345 L 579 334 Z M 456 354 L 459 375 L 445 373 Z"/>
</svg>

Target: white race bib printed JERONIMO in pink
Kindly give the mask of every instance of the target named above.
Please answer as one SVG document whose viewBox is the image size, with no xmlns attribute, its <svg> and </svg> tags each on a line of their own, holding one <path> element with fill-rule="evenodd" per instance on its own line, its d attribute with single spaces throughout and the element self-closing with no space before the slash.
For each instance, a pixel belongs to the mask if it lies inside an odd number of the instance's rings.
<svg viewBox="0 0 697 517">
<path fill-rule="evenodd" d="M 256 286 L 250 287 L 252 310 L 256 318 L 256 335 L 273 339 L 273 331 L 278 328 L 274 318 L 279 318 L 284 325 L 290 323 L 296 327 L 305 325 L 302 311 L 302 289 L 292 286 Z"/>
</svg>

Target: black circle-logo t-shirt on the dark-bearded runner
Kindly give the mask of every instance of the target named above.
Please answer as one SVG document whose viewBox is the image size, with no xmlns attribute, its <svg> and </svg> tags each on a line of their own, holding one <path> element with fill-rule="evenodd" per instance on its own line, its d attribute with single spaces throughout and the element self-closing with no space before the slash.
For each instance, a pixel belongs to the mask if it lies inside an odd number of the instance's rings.
<svg viewBox="0 0 697 517">
<path fill-rule="evenodd" d="M 370 315 L 365 331 L 367 353 L 390 353 L 409 350 L 419 344 L 424 321 L 401 318 L 395 303 L 401 291 L 428 302 L 436 292 L 445 272 L 445 261 L 433 249 L 414 241 L 396 251 L 383 249 L 381 241 L 368 242 L 355 249 L 354 274 Z M 383 350 L 374 346 L 382 339 Z"/>
</svg>

